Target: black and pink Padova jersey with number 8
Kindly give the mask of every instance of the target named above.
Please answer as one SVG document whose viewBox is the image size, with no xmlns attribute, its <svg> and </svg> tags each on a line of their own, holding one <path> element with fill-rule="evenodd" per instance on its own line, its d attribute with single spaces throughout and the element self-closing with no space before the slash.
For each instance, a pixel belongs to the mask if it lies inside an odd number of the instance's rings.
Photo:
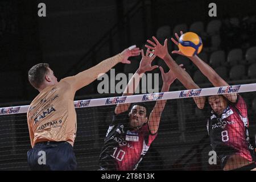
<svg viewBox="0 0 256 182">
<path fill-rule="evenodd" d="M 254 161 L 254 147 L 249 139 L 249 119 L 247 107 L 243 98 L 237 94 L 236 103 L 229 102 L 222 115 L 217 116 L 214 111 L 208 119 L 207 130 L 212 149 L 221 160 L 222 168 L 229 156 L 240 155 Z"/>
</svg>

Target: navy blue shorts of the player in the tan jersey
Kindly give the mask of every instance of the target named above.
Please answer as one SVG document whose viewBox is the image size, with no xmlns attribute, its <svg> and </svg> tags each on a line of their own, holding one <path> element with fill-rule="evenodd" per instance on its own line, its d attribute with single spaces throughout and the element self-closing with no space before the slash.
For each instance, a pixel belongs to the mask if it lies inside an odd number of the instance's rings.
<svg viewBox="0 0 256 182">
<path fill-rule="evenodd" d="M 68 142 L 39 142 L 27 152 L 31 170 L 75 170 L 77 167 L 73 147 Z"/>
</svg>

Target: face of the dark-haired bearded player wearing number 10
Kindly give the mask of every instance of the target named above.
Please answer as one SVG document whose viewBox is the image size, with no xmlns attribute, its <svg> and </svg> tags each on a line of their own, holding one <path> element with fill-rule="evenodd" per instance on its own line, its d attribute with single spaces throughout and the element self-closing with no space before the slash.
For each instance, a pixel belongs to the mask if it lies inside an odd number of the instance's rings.
<svg viewBox="0 0 256 182">
<path fill-rule="evenodd" d="M 141 127 L 147 122 L 146 108 L 143 106 L 134 105 L 129 113 L 130 126 Z"/>
</svg>

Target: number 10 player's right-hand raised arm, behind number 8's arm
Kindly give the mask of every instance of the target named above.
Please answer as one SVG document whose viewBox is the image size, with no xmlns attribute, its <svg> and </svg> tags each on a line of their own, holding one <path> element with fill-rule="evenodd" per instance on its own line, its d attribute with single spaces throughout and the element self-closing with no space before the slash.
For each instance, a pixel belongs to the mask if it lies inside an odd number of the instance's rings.
<svg viewBox="0 0 256 182">
<path fill-rule="evenodd" d="M 183 65 L 180 65 L 180 67 Z M 162 78 L 163 78 L 163 87 L 161 92 L 168 92 L 171 84 L 175 81 L 176 76 L 171 70 L 167 73 L 164 73 L 163 68 L 159 67 Z M 161 115 L 166 106 L 166 100 L 156 101 L 154 109 L 150 113 L 150 117 L 148 119 L 148 128 L 150 129 L 151 134 L 155 134 L 159 129 L 159 123 L 161 120 Z"/>
</svg>

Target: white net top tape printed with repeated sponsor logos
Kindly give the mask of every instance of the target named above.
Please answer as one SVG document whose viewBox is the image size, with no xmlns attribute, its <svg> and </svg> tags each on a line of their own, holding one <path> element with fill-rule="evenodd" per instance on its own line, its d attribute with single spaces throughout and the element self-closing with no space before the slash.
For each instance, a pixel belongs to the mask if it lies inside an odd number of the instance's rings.
<svg viewBox="0 0 256 182">
<path fill-rule="evenodd" d="M 158 100 L 172 100 L 177 98 L 212 96 L 217 94 L 242 93 L 242 92 L 254 92 L 254 91 L 256 91 L 256 83 L 220 86 L 220 87 L 203 88 L 203 89 L 179 90 L 174 92 L 138 94 L 134 96 L 120 96 L 120 97 L 96 98 L 91 100 L 79 100 L 79 101 L 74 101 L 74 105 L 75 105 L 75 108 L 82 108 L 82 107 L 105 106 L 105 105 L 126 104 L 126 103 L 134 103 L 134 102 L 158 101 Z M 2 107 L 0 108 L 0 115 L 27 113 L 28 107 L 29 107 L 28 105 Z"/>
</svg>

